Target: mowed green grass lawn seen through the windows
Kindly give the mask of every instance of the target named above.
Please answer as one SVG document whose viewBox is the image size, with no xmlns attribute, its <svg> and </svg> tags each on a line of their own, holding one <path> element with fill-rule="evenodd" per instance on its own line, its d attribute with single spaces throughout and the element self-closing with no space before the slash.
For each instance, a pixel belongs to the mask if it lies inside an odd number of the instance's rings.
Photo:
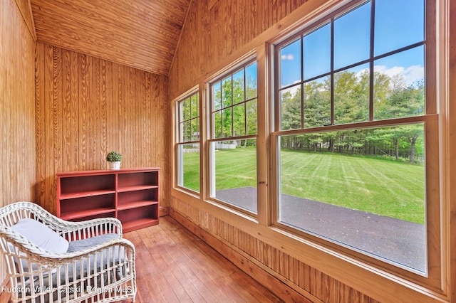
<svg viewBox="0 0 456 303">
<path fill-rule="evenodd" d="M 216 151 L 217 189 L 256 186 L 255 155 L 254 148 Z M 197 154 L 185 154 L 187 166 L 192 156 L 197 159 Z M 415 223 L 425 221 L 423 166 L 282 150 L 280 169 L 281 193 Z M 186 186 L 199 188 L 199 179 L 195 182 Z"/>
</svg>

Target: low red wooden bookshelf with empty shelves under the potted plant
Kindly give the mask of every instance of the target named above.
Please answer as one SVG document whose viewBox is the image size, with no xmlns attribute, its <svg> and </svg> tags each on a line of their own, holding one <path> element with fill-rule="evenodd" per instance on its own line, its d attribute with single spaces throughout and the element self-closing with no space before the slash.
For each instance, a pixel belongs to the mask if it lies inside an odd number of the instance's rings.
<svg viewBox="0 0 456 303">
<path fill-rule="evenodd" d="M 158 224 L 157 168 L 67 171 L 57 174 L 57 216 L 64 220 L 118 218 L 126 233 Z"/>
</svg>

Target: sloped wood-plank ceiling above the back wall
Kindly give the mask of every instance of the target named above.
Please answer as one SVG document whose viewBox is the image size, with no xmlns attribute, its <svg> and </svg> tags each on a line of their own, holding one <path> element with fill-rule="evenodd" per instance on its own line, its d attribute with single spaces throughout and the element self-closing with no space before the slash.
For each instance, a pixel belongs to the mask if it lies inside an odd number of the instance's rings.
<svg viewBox="0 0 456 303">
<path fill-rule="evenodd" d="M 191 0 L 30 0 L 38 42 L 168 75 Z"/>
</svg>

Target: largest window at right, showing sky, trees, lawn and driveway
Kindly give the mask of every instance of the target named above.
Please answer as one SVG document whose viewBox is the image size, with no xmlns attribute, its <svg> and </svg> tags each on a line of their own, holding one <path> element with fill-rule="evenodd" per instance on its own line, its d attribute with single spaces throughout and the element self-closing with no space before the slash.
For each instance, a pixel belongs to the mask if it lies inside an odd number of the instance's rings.
<svg viewBox="0 0 456 303">
<path fill-rule="evenodd" d="M 274 45 L 277 224 L 427 275 L 426 46 L 423 0 L 358 1 Z"/>
</svg>

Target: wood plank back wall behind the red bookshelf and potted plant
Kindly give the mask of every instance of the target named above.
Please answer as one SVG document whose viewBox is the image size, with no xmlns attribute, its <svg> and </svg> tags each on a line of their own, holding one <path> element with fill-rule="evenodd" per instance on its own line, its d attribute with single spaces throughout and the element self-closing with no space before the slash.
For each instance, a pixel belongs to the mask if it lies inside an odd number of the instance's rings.
<svg viewBox="0 0 456 303">
<path fill-rule="evenodd" d="M 56 173 L 106 169 L 117 150 L 122 167 L 165 163 L 170 110 L 167 77 L 82 53 L 36 47 L 37 202 L 56 213 Z M 161 205 L 167 186 L 161 178 Z"/>
</svg>

